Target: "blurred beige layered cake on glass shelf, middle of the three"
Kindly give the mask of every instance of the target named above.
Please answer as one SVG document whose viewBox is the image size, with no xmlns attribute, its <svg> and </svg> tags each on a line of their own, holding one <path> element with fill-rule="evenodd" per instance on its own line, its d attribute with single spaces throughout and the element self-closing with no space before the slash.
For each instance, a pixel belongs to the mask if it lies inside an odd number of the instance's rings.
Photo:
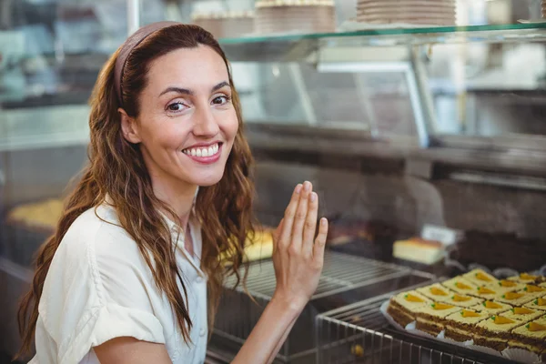
<svg viewBox="0 0 546 364">
<path fill-rule="evenodd" d="M 335 32 L 335 4 L 332 0 L 258 0 L 255 30 L 258 34 Z"/>
</svg>

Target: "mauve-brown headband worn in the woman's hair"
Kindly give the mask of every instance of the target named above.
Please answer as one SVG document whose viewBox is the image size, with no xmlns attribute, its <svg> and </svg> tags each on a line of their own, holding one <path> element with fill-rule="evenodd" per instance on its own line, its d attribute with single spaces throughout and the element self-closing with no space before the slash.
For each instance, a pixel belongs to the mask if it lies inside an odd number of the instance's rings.
<svg viewBox="0 0 546 364">
<path fill-rule="evenodd" d="M 117 55 L 116 59 L 116 68 L 114 70 L 114 82 L 116 85 L 116 95 L 117 95 L 117 101 L 119 102 L 119 106 L 122 105 L 122 93 L 121 93 L 121 79 L 123 77 L 123 72 L 125 70 L 127 58 L 131 55 L 131 52 L 133 49 L 142 43 L 143 40 L 147 38 L 148 35 L 152 35 L 153 33 L 157 32 L 159 29 L 167 28 L 172 25 L 180 25 L 182 23 L 177 22 L 157 22 L 145 25 L 138 29 L 133 35 L 129 36 L 125 43 L 121 46 L 121 49 L 119 50 L 119 54 Z"/>
</svg>

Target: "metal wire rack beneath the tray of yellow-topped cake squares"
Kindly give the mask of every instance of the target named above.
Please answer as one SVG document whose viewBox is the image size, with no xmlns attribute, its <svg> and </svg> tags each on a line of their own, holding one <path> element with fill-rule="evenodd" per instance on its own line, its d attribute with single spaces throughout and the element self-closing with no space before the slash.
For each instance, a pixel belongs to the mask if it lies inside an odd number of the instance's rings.
<svg viewBox="0 0 546 364">
<path fill-rule="evenodd" d="M 394 329 L 379 310 L 381 304 L 389 299 L 391 294 L 319 314 L 316 318 L 315 331 L 319 348 L 316 362 L 318 364 L 510 362 Z"/>
</svg>

